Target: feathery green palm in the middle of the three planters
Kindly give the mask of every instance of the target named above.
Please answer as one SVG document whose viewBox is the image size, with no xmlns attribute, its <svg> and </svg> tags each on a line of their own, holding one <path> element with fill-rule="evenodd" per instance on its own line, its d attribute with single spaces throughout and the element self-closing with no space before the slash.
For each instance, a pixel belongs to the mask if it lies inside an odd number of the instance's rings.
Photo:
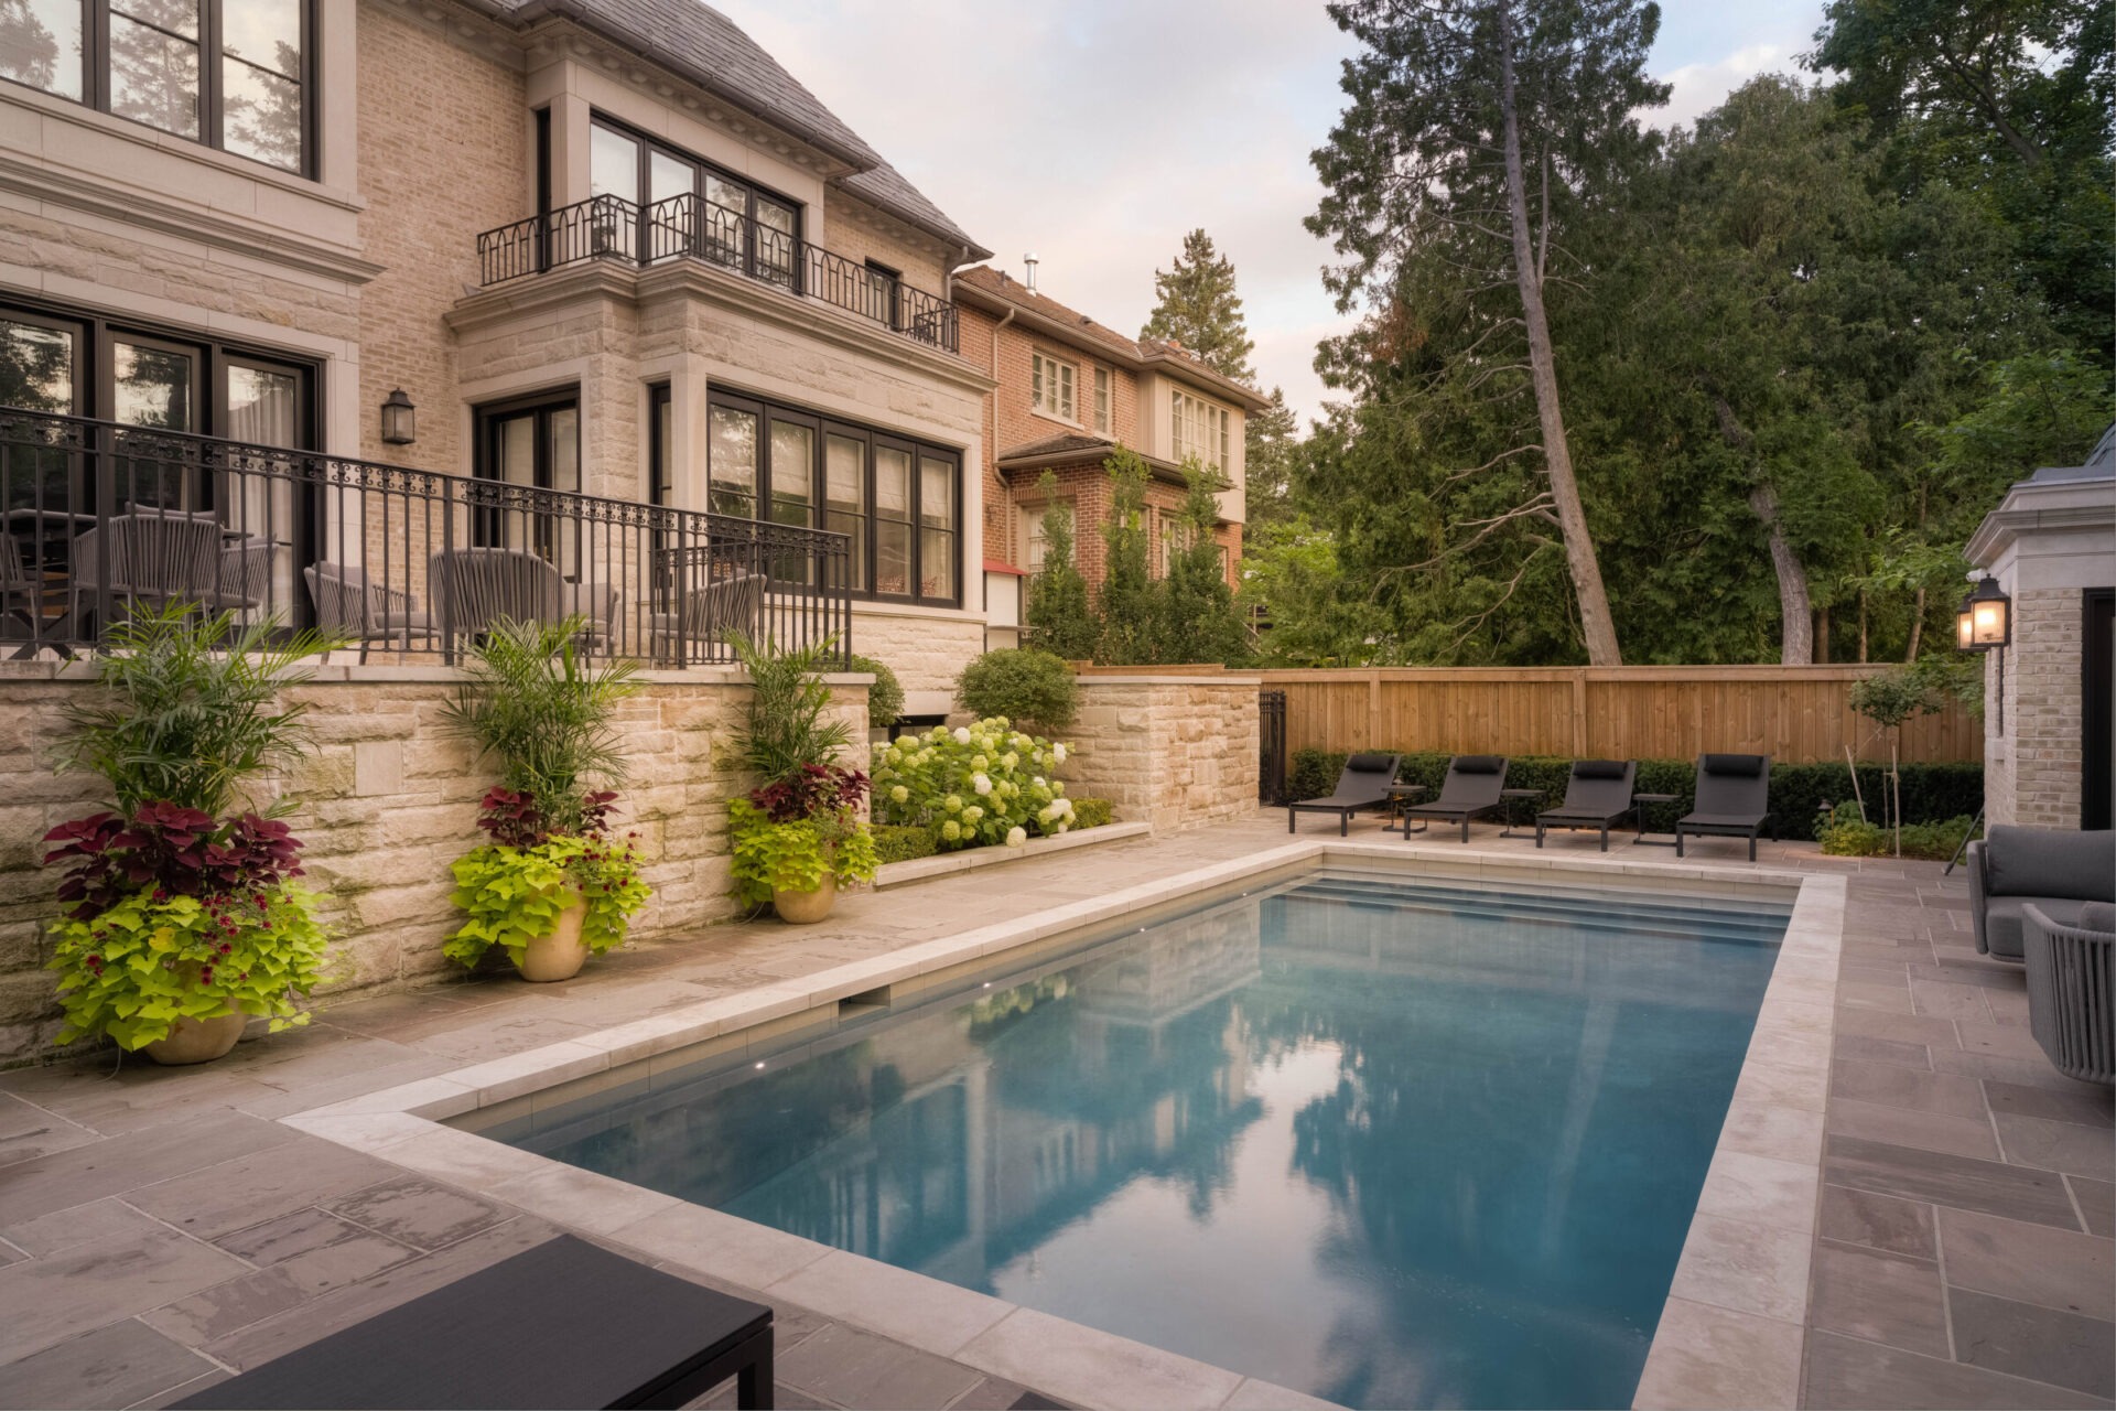
<svg viewBox="0 0 2116 1411">
<path fill-rule="evenodd" d="M 499 759 L 501 789 L 529 795 L 544 829 L 557 833 L 595 831 L 590 776 L 624 783 L 624 749 L 609 717 L 639 692 L 633 662 L 582 658 L 586 630 L 586 618 L 493 622 L 463 660 L 466 679 L 442 715 L 480 759 Z"/>
</svg>

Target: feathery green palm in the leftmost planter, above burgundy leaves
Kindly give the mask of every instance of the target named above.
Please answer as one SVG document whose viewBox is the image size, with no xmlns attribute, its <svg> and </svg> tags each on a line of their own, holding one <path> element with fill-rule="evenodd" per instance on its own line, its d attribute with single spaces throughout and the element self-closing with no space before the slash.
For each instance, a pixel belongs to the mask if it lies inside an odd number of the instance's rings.
<svg viewBox="0 0 2116 1411">
<path fill-rule="evenodd" d="M 59 770 L 102 774 L 127 817 L 167 802 L 220 819 L 243 781 L 307 745 L 307 707 L 281 692 L 309 679 L 303 660 L 336 645 L 284 633 L 277 618 L 239 624 L 182 603 L 138 613 L 110 628 L 95 690 L 66 709 Z"/>
</svg>

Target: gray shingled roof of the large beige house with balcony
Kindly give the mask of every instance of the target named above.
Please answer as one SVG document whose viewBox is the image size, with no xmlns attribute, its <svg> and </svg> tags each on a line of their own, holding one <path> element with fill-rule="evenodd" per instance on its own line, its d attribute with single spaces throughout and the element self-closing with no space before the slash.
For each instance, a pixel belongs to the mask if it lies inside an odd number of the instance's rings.
<svg viewBox="0 0 2116 1411">
<path fill-rule="evenodd" d="M 948 220 L 904 173 L 804 89 L 794 74 L 743 34 L 741 25 L 703 0 L 468 0 L 516 25 L 546 17 L 571 19 L 707 93 L 821 148 L 849 167 L 834 184 L 971 258 L 990 258 L 963 226 Z"/>
</svg>

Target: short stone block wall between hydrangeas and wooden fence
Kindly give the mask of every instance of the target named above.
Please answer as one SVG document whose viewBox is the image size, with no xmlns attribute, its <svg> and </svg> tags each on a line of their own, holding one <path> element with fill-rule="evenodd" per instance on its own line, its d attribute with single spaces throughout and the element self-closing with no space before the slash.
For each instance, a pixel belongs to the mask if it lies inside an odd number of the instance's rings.
<svg viewBox="0 0 2116 1411">
<path fill-rule="evenodd" d="M 1257 677 L 1083 677 L 1066 791 L 1176 831 L 1257 808 Z"/>
</svg>

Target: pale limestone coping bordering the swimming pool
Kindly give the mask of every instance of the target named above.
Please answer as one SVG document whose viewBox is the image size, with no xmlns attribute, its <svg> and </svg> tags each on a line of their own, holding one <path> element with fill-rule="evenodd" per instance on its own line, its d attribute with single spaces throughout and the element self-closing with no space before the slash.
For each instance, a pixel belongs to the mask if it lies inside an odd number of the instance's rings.
<svg viewBox="0 0 2116 1411">
<path fill-rule="evenodd" d="M 470 1064 L 400 1087 L 281 1117 L 290 1128 L 455 1185 L 472 1185 L 531 1214 L 605 1242 L 675 1261 L 846 1324 L 1020 1381 L 1081 1407 L 1325 1407 L 1312 1396 L 1018 1307 L 954 1284 L 755 1225 L 548 1157 L 442 1125 L 501 1104 L 681 1083 L 705 1053 L 774 1051 L 842 1001 L 887 1005 L 927 977 L 1003 963 L 1009 952 L 1090 931 L 1119 916 L 1263 886 L 1303 867 L 1354 861 L 1411 876 L 1490 882 L 1627 884 L 1689 895 L 1786 899 L 1792 916 L 1771 969 L 1748 1056 L 1689 1238 L 1646 1354 L 1634 1407 L 1794 1407 L 1822 1193 L 1822 1113 L 1835 1039 L 1835 977 L 1843 943 L 1843 876 L 1754 867 L 1729 874 L 1695 863 L 1610 863 L 1513 853 L 1308 840 L 1157 878 L 1105 897 L 1050 908 L 884 956 L 853 960 L 741 994 L 633 1020 L 525 1053 Z M 1056 939 L 1054 939 L 1056 937 Z M 694 1058 L 696 1056 L 696 1058 Z M 628 1077 L 637 1075 L 637 1077 Z M 497 1115 L 497 1113 L 495 1113 Z M 1737 1383 L 1737 1390 L 1729 1383 Z"/>
</svg>

